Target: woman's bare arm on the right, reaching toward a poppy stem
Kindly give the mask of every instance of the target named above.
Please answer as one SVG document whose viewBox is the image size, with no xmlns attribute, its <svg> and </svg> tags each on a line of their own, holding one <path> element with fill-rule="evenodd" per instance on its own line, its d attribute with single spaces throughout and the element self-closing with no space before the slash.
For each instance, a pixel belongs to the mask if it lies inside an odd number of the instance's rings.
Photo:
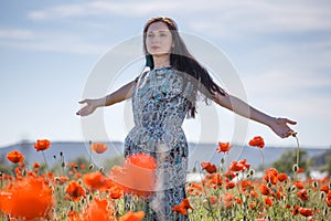
<svg viewBox="0 0 331 221">
<path fill-rule="evenodd" d="M 214 96 L 214 102 L 243 117 L 253 119 L 260 124 L 270 127 L 275 134 L 279 137 L 285 138 L 292 135 L 293 130 L 288 126 L 296 125 L 297 123 L 287 118 L 276 118 L 271 117 L 252 106 L 246 104 L 244 101 L 232 96 L 232 95 L 221 95 L 218 93 Z"/>
</svg>

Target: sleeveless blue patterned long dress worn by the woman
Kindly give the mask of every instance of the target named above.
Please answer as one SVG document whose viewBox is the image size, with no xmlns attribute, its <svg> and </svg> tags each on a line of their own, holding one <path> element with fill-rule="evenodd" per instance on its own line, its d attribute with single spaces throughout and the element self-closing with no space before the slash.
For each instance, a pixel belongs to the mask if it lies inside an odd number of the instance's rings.
<svg viewBox="0 0 331 221">
<path fill-rule="evenodd" d="M 146 152 L 158 161 L 156 193 L 146 220 L 183 220 L 172 211 L 185 198 L 188 143 L 181 128 L 192 84 L 172 67 L 142 73 L 132 94 L 135 127 L 125 141 L 125 157 Z"/>
</svg>

